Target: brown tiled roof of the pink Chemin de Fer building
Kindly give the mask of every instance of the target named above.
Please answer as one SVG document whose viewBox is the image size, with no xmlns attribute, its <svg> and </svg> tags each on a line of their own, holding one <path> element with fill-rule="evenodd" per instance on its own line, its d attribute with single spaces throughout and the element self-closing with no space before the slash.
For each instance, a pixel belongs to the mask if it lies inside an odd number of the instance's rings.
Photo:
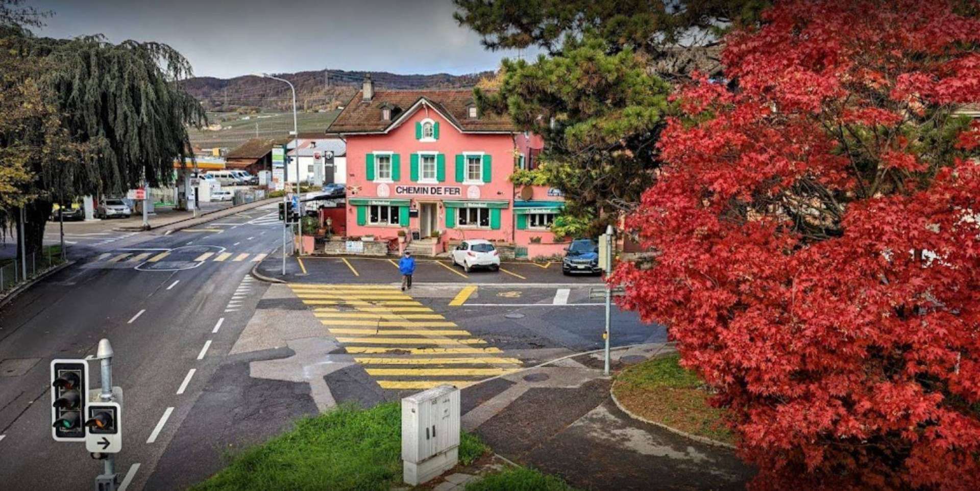
<svg viewBox="0 0 980 491">
<path fill-rule="evenodd" d="M 473 100 L 473 91 L 469 89 L 382 90 L 374 92 L 374 97 L 367 103 L 362 101 L 363 97 L 361 91 L 355 94 L 327 131 L 335 133 L 384 131 L 423 98 L 433 108 L 445 113 L 464 131 L 516 131 L 514 123 L 507 114 L 481 113 L 475 119 L 468 117 L 467 105 Z M 391 115 L 391 121 L 381 119 L 381 106 L 384 104 L 398 108 Z"/>
</svg>

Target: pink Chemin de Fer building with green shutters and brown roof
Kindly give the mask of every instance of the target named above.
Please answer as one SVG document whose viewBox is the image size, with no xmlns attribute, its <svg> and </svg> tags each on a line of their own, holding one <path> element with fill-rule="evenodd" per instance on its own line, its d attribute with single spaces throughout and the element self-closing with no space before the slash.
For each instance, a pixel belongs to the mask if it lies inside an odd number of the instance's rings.
<svg viewBox="0 0 980 491">
<path fill-rule="evenodd" d="M 563 205 L 547 189 L 515 189 L 520 161 L 510 118 L 478 112 L 470 90 L 364 89 L 328 131 L 347 142 L 348 235 L 446 250 L 464 239 L 560 252 L 548 230 Z M 526 148 L 525 148 L 526 149 Z"/>
</svg>

